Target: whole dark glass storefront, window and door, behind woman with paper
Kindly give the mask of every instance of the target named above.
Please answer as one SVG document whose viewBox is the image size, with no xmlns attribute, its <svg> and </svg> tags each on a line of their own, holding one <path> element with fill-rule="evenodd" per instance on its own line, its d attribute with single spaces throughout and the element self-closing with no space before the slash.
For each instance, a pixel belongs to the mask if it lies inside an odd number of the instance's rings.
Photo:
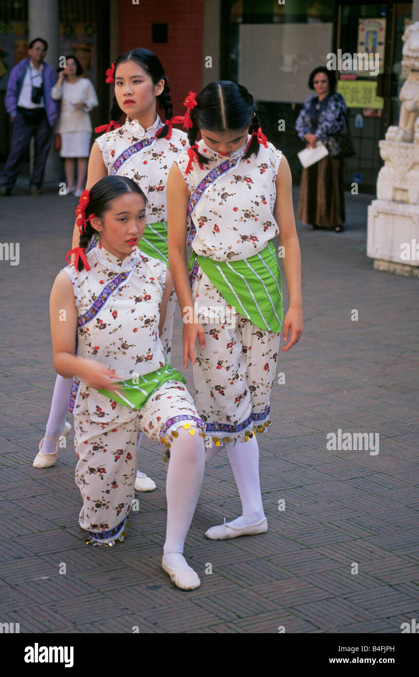
<svg viewBox="0 0 419 677">
<path fill-rule="evenodd" d="M 368 66 L 365 59 L 337 63 L 336 74 L 357 150 L 345 161 L 345 187 L 355 181 L 360 191 L 374 192 L 382 165 L 378 141 L 399 119 L 398 95 L 406 77 L 401 36 L 412 18 L 412 3 L 225 0 L 224 17 L 228 56 L 223 77 L 240 82 L 259 101 L 263 129 L 288 158 L 296 183 L 301 175 L 296 154 L 303 144 L 294 124 L 313 95 L 307 87 L 310 72 L 326 66 L 330 52 L 336 58 L 338 50 L 368 55 Z"/>
</svg>

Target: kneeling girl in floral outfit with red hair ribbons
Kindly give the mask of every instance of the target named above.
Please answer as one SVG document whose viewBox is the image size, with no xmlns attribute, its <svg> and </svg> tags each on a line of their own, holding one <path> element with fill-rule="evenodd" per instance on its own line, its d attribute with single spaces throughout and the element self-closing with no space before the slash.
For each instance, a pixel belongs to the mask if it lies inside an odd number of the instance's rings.
<svg viewBox="0 0 419 677">
<path fill-rule="evenodd" d="M 54 366 L 74 376 L 79 524 L 93 545 L 124 540 L 145 433 L 170 458 L 162 568 L 178 588 L 194 590 L 200 580 L 183 546 L 204 475 L 204 425 L 158 335 L 172 283 L 166 264 L 138 247 L 144 192 L 127 177 L 104 177 L 83 192 L 77 223 L 79 247 L 68 252 L 74 265 L 58 274 L 49 307 Z"/>
</svg>

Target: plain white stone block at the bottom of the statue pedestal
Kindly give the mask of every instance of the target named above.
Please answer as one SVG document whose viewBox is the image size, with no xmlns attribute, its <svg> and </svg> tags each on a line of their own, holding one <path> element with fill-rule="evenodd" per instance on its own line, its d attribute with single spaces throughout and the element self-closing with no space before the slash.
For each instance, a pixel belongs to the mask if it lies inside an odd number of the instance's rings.
<svg viewBox="0 0 419 677">
<path fill-rule="evenodd" d="M 367 256 L 374 268 L 419 276 L 419 204 L 372 200 L 368 206 Z M 380 262 L 380 263 L 378 263 Z M 393 265 L 385 265 L 385 262 Z M 394 265 L 396 264 L 396 265 Z"/>
</svg>

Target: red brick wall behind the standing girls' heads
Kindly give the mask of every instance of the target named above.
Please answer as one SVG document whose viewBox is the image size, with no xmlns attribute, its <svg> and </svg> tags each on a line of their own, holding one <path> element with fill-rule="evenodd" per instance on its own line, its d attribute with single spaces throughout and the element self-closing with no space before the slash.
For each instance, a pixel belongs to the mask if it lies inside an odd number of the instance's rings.
<svg viewBox="0 0 419 677">
<path fill-rule="evenodd" d="M 151 49 L 169 77 L 173 114 L 183 115 L 188 91 L 202 88 L 203 0 L 120 0 L 120 53 Z M 168 43 L 152 43 L 152 24 L 168 24 Z M 112 60 L 117 55 L 111 55 Z M 160 110 L 158 110 L 160 114 Z"/>
</svg>

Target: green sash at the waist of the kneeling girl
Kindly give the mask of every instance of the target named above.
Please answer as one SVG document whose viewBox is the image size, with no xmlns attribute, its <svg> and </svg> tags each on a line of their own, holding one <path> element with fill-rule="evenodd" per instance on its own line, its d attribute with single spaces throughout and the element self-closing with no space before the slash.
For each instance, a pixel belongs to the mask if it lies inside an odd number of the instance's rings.
<svg viewBox="0 0 419 677">
<path fill-rule="evenodd" d="M 181 381 L 181 383 L 186 383 L 185 377 L 182 376 L 181 372 L 174 367 L 171 367 L 166 359 L 164 366 L 157 369 L 155 372 L 120 381 L 118 383 L 118 390 L 116 391 L 102 390 L 100 388 L 97 390 L 113 401 L 125 404 L 125 406 L 131 407 L 132 409 L 141 409 L 154 391 L 160 388 L 160 385 L 166 383 L 168 380 L 177 380 Z"/>
</svg>

